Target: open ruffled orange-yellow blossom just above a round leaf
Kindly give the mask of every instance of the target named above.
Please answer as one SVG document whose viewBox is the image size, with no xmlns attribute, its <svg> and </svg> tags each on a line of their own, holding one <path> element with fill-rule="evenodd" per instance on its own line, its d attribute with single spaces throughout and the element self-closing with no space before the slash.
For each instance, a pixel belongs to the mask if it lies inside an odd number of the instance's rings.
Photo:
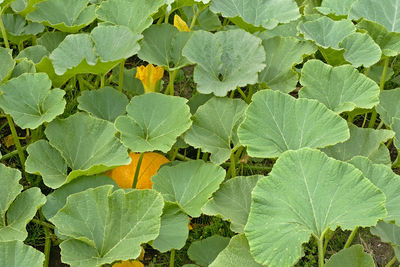
<svg viewBox="0 0 400 267">
<path fill-rule="evenodd" d="M 162 67 L 154 67 L 152 64 L 139 66 L 136 70 L 136 78 L 142 81 L 145 93 L 155 92 L 156 85 L 159 80 L 164 76 L 164 69 Z"/>
</svg>

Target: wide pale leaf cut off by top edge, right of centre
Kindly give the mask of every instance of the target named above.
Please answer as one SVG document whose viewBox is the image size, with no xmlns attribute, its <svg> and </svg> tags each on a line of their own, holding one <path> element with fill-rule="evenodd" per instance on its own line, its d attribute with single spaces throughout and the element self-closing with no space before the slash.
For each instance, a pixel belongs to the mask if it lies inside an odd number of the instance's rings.
<svg viewBox="0 0 400 267">
<path fill-rule="evenodd" d="M 214 0 L 210 9 L 223 17 L 240 17 L 255 26 L 272 29 L 279 23 L 287 23 L 300 17 L 294 0 L 260 0 L 249 4 L 246 0 Z"/>
</svg>

